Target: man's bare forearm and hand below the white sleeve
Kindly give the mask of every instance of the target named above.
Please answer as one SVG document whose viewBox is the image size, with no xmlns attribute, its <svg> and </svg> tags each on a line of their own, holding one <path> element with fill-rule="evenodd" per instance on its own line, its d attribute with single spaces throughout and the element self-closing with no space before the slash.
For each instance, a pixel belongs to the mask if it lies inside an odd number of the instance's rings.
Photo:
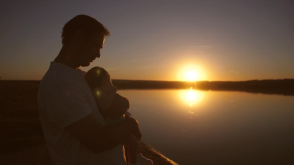
<svg viewBox="0 0 294 165">
<path fill-rule="evenodd" d="M 131 117 L 118 124 L 102 127 L 94 113 L 66 127 L 72 135 L 94 153 L 101 153 L 118 146 L 138 128 L 138 121 Z"/>
</svg>

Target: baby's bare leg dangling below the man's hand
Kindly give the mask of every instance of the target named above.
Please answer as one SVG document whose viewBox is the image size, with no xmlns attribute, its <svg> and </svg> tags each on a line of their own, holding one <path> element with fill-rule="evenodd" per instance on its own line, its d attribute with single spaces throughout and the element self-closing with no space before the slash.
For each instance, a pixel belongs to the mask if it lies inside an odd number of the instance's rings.
<svg viewBox="0 0 294 165">
<path fill-rule="evenodd" d="M 128 159 L 129 164 L 135 164 L 137 162 L 137 150 L 140 146 L 139 142 L 133 134 L 131 134 L 124 142 L 123 145 L 128 147 Z"/>
</svg>

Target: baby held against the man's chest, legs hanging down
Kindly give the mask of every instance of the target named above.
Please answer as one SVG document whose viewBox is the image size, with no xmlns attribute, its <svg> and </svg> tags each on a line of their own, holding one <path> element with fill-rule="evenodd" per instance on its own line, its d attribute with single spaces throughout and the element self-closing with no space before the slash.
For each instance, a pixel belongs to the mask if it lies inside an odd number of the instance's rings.
<svg viewBox="0 0 294 165">
<path fill-rule="evenodd" d="M 130 107 L 127 98 L 122 97 L 117 92 L 117 88 L 111 83 L 108 72 L 100 67 L 90 69 L 85 75 L 85 79 L 91 87 L 98 109 L 108 124 L 116 124 L 125 120 L 125 114 Z M 140 130 L 138 129 L 140 132 Z M 141 135 L 141 133 L 135 133 Z M 152 160 L 145 158 L 140 151 L 140 139 L 131 134 L 123 145 L 128 147 L 129 165 L 153 165 Z"/>
</svg>

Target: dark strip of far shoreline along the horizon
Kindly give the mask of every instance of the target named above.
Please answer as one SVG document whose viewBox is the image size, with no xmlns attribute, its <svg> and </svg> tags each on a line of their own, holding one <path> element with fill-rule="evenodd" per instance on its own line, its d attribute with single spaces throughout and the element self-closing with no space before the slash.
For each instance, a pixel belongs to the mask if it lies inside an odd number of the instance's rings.
<svg viewBox="0 0 294 165">
<path fill-rule="evenodd" d="M 11 81 L 1 80 L 0 85 L 4 83 L 27 82 L 39 84 L 40 81 Z M 193 89 L 198 90 L 225 90 L 225 91 L 243 91 L 249 93 L 294 95 L 294 79 L 280 80 L 250 80 L 240 82 L 169 82 L 169 81 L 141 81 L 141 80 L 112 80 L 114 86 L 118 89 Z M 23 90 L 23 89 L 20 89 Z"/>
</svg>

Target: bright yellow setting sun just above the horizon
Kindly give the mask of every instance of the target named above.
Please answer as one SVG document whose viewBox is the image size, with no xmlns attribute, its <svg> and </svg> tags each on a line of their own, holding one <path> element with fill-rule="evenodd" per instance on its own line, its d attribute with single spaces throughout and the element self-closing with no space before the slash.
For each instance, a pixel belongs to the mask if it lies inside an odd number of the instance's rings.
<svg viewBox="0 0 294 165">
<path fill-rule="evenodd" d="M 205 75 L 203 70 L 195 65 L 187 65 L 179 71 L 179 80 L 180 81 L 203 81 L 205 80 Z"/>
</svg>

